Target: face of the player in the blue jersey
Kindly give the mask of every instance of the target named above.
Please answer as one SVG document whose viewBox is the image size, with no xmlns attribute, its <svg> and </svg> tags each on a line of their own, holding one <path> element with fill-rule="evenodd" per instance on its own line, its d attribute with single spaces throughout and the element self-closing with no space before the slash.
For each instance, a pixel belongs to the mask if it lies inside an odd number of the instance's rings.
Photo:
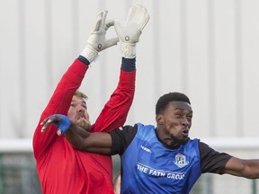
<svg viewBox="0 0 259 194">
<path fill-rule="evenodd" d="M 164 112 L 156 116 L 158 137 L 166 145 L 183 145 L 192 126 L 192 107 L 185 101 L 170 101 Z"/>
</svg>

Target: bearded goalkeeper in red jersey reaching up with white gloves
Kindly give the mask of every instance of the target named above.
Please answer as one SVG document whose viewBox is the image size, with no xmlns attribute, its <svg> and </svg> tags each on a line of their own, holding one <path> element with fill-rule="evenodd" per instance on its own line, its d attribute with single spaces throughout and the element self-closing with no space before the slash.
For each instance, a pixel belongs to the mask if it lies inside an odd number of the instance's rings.
<svg viewBox="0 0 259 194">
<path fill-rule="evenodd" d="M 109 194 L 112 184 L 112 158 L 108 155 L 77 151 L 64 136 L 57 136 L 56 128 L 41 133 L 43 119 L 52 114 L 63 114 L 87 131 L 108 132 L 124 124 L 135 92 L 136 44 L 146 26 L 149 15 L 142 5 L 132 6 L 125 25 L 118 24 L 117 36 L 106 39 L 106 31 L 114 21 L 106 21 L 107 11 L 97 15 L 97 21 L 83 52 L 62 76 L 43 110 L 33 136 L 33 153 L 44 194 Z M 86 95 L 78 91 L 88 66 L 105 48 L 121 41 L 121 75 L 111 99 L 101 114 L 90 123 Z"/>
</svg>

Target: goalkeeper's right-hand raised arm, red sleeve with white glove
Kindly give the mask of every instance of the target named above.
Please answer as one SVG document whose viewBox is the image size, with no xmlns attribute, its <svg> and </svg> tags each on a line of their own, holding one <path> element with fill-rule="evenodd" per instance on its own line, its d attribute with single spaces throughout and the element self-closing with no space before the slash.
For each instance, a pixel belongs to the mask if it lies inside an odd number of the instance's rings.
<svg viewBox="0 0 259 194">
<path fill-rule="evenodd" d="M 124 125 L 135 93 L 136 45 L 148 20 L 147 9 L 140 4 L 129 8 L 125 21 L 115 20 L 115 31 L 121 41 L 120 80 L 91 131 L 107 132 Z"/>
</svg>

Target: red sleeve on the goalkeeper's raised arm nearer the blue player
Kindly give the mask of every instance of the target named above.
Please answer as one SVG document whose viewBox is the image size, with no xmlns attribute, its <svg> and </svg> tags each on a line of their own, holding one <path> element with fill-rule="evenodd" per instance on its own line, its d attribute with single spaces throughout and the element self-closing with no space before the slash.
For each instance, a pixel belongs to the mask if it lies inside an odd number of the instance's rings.
<svg viewBox="0 0 259 194">
<path fill-rule="evenodd" d="M 125 72 L 121 69 L 119 84 L 92 126 L 92 132 L 109 132 L 124 125 L 135 93 L 135 79 L 136 70 Z"/>
</svg>

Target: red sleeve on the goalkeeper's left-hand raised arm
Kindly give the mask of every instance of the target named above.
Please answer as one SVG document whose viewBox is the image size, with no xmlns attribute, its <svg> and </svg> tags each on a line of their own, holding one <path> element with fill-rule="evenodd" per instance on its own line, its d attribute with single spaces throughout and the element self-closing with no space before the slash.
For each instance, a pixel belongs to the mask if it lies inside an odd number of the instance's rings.
<svg viewBox="0 0 259 194">
<path fill-rule="evenodd" d="M 40 125 L 40 122 L 55 113 L 67 115 L 73 95 L 82 83 L 87 68 L 88 66 L 76 59 L 74 63 L 68 67 L 67 72 L 59 81 L 58 86 L 52 94 L 47 107 L 43 110 L 38 126 L 34 131 L 32 145 L 36 159 L 44 154 L 49 145 L 51 145 L 56 138 L 60 138 L 56 133 L 57 128 L 53 125 L 50 125 L 48 130 L 41 133 L 40 130 L 42 126 Z"/>
</svg>

